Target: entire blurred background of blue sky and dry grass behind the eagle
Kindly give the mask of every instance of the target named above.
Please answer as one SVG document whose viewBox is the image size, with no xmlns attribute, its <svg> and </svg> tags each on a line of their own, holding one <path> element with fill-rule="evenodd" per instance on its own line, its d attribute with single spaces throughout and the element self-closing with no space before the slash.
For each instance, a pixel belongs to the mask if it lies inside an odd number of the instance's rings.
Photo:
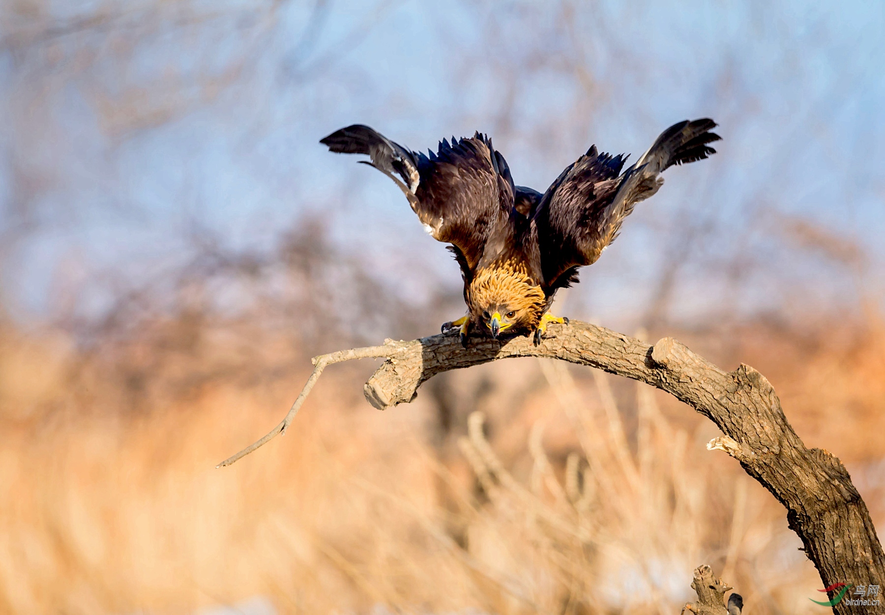
<svg viewBox="0 0 885 615">
<path fill-rule="evenodd" d="M 882 4 L 0 4 L 0 611 L 676 613 L 710 564 L 818 612 L 785 511 L 712 424 L 586 368 L 502 361 L 385 412 L 458 266 L 319 138 L 487 132 L 543 190 L 681 119 L 674 167 L 556 311 L 773 382 L 885 524 Z M 881 580 L 849 580 L 875 583 Z"/>
</svg>

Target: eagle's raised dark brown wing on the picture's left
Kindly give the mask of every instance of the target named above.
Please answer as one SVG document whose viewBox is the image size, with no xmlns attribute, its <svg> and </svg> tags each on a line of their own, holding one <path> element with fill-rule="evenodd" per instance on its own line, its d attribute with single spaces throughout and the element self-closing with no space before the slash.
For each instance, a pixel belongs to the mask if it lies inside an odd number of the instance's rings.
<svg viewBox="0 0 885 615">
<path fill-rule="evenodd" d="M 320 142 L 332 151 L 368 154 L 372 162 L 366 164 L 396 181 L 427 231 L 455 246 L 466 278 L 487 253 L 487 242 L 504 245 L 509 239 L 513 181 L 507 162 L 487 136 L 452 137 L 451 143 L 443 139 L 429 156 L 358 124 Z"/>
</svg>

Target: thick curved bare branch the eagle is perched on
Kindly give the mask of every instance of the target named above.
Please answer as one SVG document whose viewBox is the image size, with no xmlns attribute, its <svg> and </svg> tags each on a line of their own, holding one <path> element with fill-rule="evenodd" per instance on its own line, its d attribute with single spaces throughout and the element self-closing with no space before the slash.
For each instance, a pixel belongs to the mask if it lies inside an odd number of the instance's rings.
<svg viewBox="0 0 885 615">
<path fill-rule="evenodd" d="M 734 372 L 724 372 L 670 337 L 650 346 L 574 320 L 552 332 L 555 336 L 539 346 L 519 337 L 504 342 L 473 340 L 470 348 L 463 349 L 457 335 L 441 334 L 410 342 L 387 340 L 383 346 L 316 357 L 316 367 L 286 419 L 220 465 L 234 463 L 285 431 L 326 365 L 351 358 L 385 357 L 364 387 L 369 403 L 383 410 L 411 402 L 419 386 L 437 373 L 508 357 L 558 358 L 643 381 L 711 419 L 723 435 L 707 448 L 735 457 L 786 507 L 789 527 L 802 539 L 804 551 L 826 587 L 885 579 L 885 554 L 849 473 L 826 450 L 805 447 L 765 376 L 743 364 Z M 844 614 L 865 608 L 840 603 L 834 610 Z"/>
</svg>

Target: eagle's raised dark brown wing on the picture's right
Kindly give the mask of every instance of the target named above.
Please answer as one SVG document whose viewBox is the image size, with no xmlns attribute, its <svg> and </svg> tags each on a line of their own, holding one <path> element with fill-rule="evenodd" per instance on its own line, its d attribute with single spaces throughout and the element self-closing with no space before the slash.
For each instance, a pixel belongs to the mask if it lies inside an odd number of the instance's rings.
<svg viewBox="0 0 885 615">
<path fill-rule="evenodd" d="M 634 205 L 664 183 L 659 173 L 716 153 L 707 145 L 720 140 L 710 132 L 715 126 L 712 119 L 674 124 L 622 175 L 627 158 L 600 154 L 596 146 L 559 175 L 534 214 L 548 294 L 574 281 L 578 267 L 596 262 Z"/>
</svg>

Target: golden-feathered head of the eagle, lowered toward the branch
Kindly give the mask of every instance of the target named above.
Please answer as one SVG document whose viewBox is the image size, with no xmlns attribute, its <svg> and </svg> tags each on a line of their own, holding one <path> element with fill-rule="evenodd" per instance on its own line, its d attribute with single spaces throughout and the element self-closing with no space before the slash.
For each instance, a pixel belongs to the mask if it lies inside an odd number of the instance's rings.
<svg viewBox="0 0 885 615">
<path fill-rule="evenodd" d="M 512 261 L 478 271 L 467 289 L 473 325 L 485 334 L 527 334 L 538 327 L 547 298 Z"/>
</svg>

